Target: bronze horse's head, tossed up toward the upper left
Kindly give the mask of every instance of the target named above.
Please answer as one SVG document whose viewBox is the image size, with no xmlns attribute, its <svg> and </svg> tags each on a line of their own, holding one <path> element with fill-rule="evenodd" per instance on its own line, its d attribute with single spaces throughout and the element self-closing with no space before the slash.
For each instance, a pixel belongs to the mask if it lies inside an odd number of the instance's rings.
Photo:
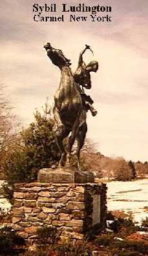
<svg viewBox="0 0 148 256">
<path fill-rule="evenodd" d="M 52 63 L 61 69 L 63 66 L 69 67 L 71 65 L 70 59 L 67 59 L 61 50 L 53 48 L 50 43 L 44 46 L 47 50 L 47 56 L 51 59 Z"/>
</svg>

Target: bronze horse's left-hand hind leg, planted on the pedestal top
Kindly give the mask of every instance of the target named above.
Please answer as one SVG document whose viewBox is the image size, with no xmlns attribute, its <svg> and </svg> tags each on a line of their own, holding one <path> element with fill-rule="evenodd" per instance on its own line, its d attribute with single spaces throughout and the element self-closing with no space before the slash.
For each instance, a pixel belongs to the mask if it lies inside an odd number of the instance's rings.
<svg viewBox="0 0 148 256">
<path fill-rule="evenodd" d="M 61 153 L 61 159 L 59 160 L 59 166 L 65 165 L 67 153 L 66 153 L 65 147 L 63 145 L 63 139 L 66 138 L 68 135 L 69 135 L 69 131 L 67 131 L 63 125 L 61 127 L 58 127 L 58 129 L 56 131 L 56 142 L 59 147 L 59 151 Z"/>
</svg>

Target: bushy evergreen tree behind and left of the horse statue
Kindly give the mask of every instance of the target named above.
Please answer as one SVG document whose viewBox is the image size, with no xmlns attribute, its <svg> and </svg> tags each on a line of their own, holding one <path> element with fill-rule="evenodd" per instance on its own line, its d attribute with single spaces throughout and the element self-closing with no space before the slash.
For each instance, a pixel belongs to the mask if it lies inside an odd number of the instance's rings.
<svg viewBox="0 0 148 256">
<path fill-rule="evenodd" d="M 35 121 L 21 131 L 20 145 L 5 158 L 6 176 L 12 183 L 36 179 L 39 169 L 59 161 L 52 116 L 39 112 L 34 116 Z"/>
</svg>

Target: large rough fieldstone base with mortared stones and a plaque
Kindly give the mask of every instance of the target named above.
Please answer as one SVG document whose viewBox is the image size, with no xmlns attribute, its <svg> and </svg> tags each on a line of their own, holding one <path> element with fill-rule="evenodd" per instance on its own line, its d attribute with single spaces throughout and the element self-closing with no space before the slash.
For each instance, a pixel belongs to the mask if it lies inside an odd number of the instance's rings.
<svg viewBox="0 0 148 256">
<path fill-rule="evenodd" d="M 106 210 L 105 184 L 16 184 L 12 227 L 25 239 L 43 226 L 83 239 L 94 224 L 105 224 Z"/>
</svg>

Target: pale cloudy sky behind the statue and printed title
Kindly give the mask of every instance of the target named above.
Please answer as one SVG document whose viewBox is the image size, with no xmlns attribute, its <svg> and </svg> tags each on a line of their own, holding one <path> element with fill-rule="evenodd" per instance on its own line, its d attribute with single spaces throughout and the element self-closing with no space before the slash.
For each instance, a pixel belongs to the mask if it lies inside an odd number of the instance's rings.
<svg viewBox="0 0 148 256">
<path fill-rule="evenodd" d="M 56 3 L 77 6 L 112 6 L 112 22 L 98 21 L 41 23 L 33 19 L 32 5 Z M 79 52 L 85 44 L 86 63 L 96 59 L 99 70 L 91 75 L 92 89 L 85 91 L 94 100 L 98 114 L 88 112 L 87 137 L 105 156 L 123 156 L 126 160 L 148 160 L 148 1 L 31 1 L 3 0 L 0 16 L 1 83 L 15 105 L 23 125 L 34 120 L 35 109 L 41 110 L 48 97 L 53 102 L 60 72 L 47 58 L 43 45 L 48 41 L 61 49 L 76 70 Z M 76 14 L 86 16 L 89 14 Z M 99 12 L 97 16 L 105 16 Z"/>
</svg>

